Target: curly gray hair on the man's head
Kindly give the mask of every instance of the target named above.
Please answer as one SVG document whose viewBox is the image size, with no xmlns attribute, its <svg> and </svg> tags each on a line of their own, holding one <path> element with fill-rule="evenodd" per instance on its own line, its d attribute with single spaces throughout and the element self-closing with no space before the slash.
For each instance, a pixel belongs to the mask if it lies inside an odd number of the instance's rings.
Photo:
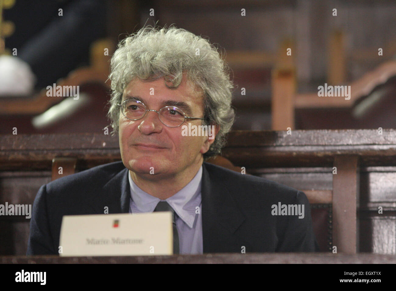
<svg viewBox="0 0 396 291">
<path fill-rule="evenodd" d="M 204 154 L 207 160 L 220 154 L 225 135 L 234 123 L 229 69 L 217 48 L 201 36 L 176 27 L 144 27 L 120 41 L 111 58 L 109 113 L 112 133 L 118 133 L 124 88 L 135 78 L 165 78 L 169 88 L 180 85 L 183 73 L 203 91 L 204 125 L 219 125 L 215 141 Z M 171 86 L 169 84 L 171 83 Z"/>
</svg>

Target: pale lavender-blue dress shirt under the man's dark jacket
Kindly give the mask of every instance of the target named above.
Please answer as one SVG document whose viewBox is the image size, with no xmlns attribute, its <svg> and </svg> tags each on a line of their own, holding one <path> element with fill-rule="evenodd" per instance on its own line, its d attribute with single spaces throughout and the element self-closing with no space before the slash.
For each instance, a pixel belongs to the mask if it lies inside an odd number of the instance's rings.
<svg viewBox="0 0 396 291">
<path fill-rule="evenodd" d="M 160 198 L 139 188 L 129 173 L 131 200 L 129 213 L 153 212 Z M 176 227 L 179 233 L 180 254 L 202 254 L 202 199 L 201 199 L 202 166 L 192 180 L 175 195 L 164 200 L 177 213 Z M 198 208 L 199 207 L 199 208 Z"/>
</svg>

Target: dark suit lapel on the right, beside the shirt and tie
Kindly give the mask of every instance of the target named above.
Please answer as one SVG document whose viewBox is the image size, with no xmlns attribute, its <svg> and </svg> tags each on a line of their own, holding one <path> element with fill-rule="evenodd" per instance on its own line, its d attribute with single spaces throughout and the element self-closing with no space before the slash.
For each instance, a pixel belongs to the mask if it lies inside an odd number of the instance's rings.
<svg viewBox="0 0 396 291">
<path fill-rule="evenodd" d="M 213 167 L 213 166 L 210 166 Z M 202 236 L 204 253 L 240 250 L 234 233 L 245 220 L 227 186 L 203 164 Z"/>
</svg>

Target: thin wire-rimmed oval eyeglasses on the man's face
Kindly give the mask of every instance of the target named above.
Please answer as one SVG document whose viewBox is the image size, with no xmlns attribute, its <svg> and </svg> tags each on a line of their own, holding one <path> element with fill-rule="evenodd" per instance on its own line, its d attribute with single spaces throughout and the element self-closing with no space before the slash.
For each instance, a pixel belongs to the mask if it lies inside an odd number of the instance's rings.
<svg viewBox="0 0 396 291">
<path fill-rule="evenodd" d="M 147 109 L 143 102 L 135 99 L 125 100 L 117 105 L 121 107 L 122 114 L 129 120 L 139 120 L 146 115 L 147 111 L 157 112 L 160 121 L 168 127 L 181 126 L 186 118 L 205 120 L 205 118 L 186 116 L 183 110 L 174 106 L 165 106 L 160 111 Z"/>
</svg>

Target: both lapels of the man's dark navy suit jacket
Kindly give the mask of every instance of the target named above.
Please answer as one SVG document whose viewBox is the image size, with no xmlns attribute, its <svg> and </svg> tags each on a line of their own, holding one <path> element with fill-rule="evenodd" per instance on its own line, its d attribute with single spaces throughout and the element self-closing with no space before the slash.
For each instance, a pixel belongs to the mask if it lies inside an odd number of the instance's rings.
<svg viewBox="0 0 396 291">
<path fill-rule="evenodd" d="M 244 222 L 245 216 L 238 209 L 221 179 L 210 165 L 202 165 L 202 238 L 204 253 L 236 252 L 240 250 L 234 235 Z M 122 169 L 103 186 L 97 196 L 95 213 L 103 213 L 109 207 L 109 213 L 128 213 L 130 190 L 129 171 Z"/>
</svg>

